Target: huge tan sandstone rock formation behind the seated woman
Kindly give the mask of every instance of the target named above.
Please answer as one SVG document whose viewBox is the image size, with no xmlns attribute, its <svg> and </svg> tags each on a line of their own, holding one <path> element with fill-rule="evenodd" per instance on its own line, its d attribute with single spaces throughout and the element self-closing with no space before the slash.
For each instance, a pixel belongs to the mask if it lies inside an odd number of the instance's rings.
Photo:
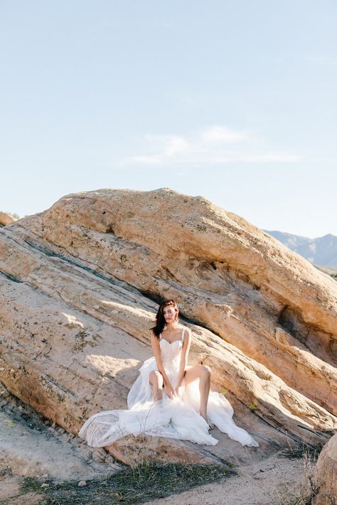
<svg viewBox="0 0 337 505">
<path fill-rule="evenodd" d="M 191 364 L 211 366 L 261 455 L 336 429 L 336 281 L 203 197 L 66 195 L 0 230 L 0 279 L 0 381 L 66 430 L 126 408 L 166 297 L 193 331 Z M 231 442 L 215 436 L 208 455 L 223 457 Z M 109 450 L 129 461 L 121 444 Z"/>
</svg>

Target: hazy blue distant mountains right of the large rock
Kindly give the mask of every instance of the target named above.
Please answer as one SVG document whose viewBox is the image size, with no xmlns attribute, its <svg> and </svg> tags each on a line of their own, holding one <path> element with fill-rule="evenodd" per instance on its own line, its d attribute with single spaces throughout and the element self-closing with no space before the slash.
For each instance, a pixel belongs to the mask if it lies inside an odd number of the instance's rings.
<svg viewBox="0 0 337 505">
<path fill-rule="evenodd" d="M 291 233 L 277 232 L 276 230 L 264 229 L 275 239 L 287 246 L 291 251 L 295 251 L 305 259 L 310 261 L 321 270 L 333 275 L 337 273 L 337 237 L 335 235 L 324 235 L 317 239 L 308 239 L 300 235 Z"/>
</svg>

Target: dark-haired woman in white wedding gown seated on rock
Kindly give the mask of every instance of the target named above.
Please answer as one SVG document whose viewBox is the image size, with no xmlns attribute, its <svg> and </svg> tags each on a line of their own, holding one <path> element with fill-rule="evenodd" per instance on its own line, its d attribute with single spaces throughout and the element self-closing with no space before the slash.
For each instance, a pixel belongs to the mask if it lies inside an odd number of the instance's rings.
<svg viewBox="0 0 337 505">
<path fill-rule="evenodd" d="M 232 420 L 233 409 L 222 393 L 210 391 L 210 367 L 188 366 L 191 331 L 178 322 L 176 300 L 164 300 L 151 328 L 154 356 L 146 359 L 129 390 L 127 409 L 102 411 L 88 418 L 78 435 L 90 447 L 105 447 L 126 435 L 191 440 L 215 445 L 215 426 L 242 445 L 259 447 Z"/>
</svg>

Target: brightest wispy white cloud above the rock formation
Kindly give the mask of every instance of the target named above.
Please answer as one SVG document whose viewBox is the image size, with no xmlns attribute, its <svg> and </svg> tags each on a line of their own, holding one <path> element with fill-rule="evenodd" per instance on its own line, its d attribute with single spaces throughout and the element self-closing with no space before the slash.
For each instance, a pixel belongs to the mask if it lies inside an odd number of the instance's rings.
<svg viewBox="0 0 337 505">
<path fill-rule="evenodd" d="M 125 163 L 203 166 L 233 162 L 294 163 L 302 159 L 296 153 L 262 150 L 263 139 L 225 126 L 208 126 L 190 137 L 147 134 L 144 139 L 148 152 L 132 156 Z"/>
</svg>

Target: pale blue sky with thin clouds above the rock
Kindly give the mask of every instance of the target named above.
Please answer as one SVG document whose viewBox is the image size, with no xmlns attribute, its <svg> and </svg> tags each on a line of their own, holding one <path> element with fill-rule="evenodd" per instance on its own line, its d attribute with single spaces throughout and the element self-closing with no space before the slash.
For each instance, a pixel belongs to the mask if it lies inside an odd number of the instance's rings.
<svg viewBox="0 0 337 505">
<path fill-rule="evenodd" d="M 172 188 L 337 234 L 335 0 L 0 0 L 0 210 Z"/>
</svg>

